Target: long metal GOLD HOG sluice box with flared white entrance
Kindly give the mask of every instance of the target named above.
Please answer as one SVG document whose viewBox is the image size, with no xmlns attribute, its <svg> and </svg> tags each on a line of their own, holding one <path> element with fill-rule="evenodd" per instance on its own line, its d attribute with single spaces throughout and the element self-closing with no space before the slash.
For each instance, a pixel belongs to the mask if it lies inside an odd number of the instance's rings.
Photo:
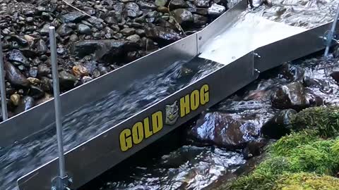
<svg viewBox="0 0 339 190">
<path fill-rule="evenodd" d="M 72 140 L 76 134 L 66 137 L 69 129 L 64 129 L 66 173 L 72 179 L 71 189 L 89 182 L 206 108 L 253 82 L 260 72 L 325 48 L 323 35 L 330 29 L 331 23 L 305 30 L 264 18 L 246 18 L 246 8 L 246 1 L 240 1 L 200 32 L 61 95 L 64 127 L 78 127 L 85 131 L 87 128 L 81 120 L 86 120 L 86 125 L 95 125 L 95 122 L 105 122 L 106 125 L 101 131 L 89 130 L 93 135 L 79 144 Z M 165 95 L 155 94 L 153 99 L 128 99 L 130 94 L 138 95 L 138 92 L 145 90 L 131 88 L 133 83 L 150 75 L 158 75 L 177 61 L 190 63 L 194 60 L 203 60 L 202 65 L 215 63 L 218 67 L 197 80 L 186 82 L 179 89 L 173 87 Z M 172 84 L 164 81 L 162 85 Z M 152 87 L 152 83 L 148 86 Z M 124 99 L 112 98 L 112 91 L 120 91 Z M 149 93 L 153 92 L 157 92 L 157 89 Z M 135 101 L 145 103 L 142 108 L 134 108 Z M 121 111 L 103 117 L 106 112 L 112 111 L 112 107 L 106 108 L 105 103 L 117 105 Z M 91 112 L 88 111 L 88 115 L 83 114 L 79 118 L 78 112 L 84 109 L 90 109 Z M 99 117 L 100 121 L 95 120 L 95 117 Z M 55 128 L 54 121 L 52 99 L 2 122 L 0 146 L 11 147 L 15 141 L 16 144 L 29 144 Z M 78 131 L 79 134 L 81 132 Z M 55 135 L 51 138 L 57 144 Z M 18 176 L 18 188 L 51 189 L 52 180 L 58 176 L 57 155 L 42 158 L 38 154 L 33 159 L 37 160 L 39 167 Z M 8 186 L 1 186 L 1 189 L 8 189 Z"/>
</svg>

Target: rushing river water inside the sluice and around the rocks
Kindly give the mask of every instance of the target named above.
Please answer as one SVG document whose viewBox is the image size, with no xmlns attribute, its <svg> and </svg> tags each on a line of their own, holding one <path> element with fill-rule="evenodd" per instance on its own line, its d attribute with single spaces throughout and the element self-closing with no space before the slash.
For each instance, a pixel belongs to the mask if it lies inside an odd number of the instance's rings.
<svg viewBox="0 0 339 190">
<path fill-rule="evenodd" d="M 270 20 L 289 25 L 314 27 L 330 21 L 336 6 L 335 1 L 273 1 L 273 3 L 275 6 L 272 8 L 261 7 L 249 14 L 263 15 Z M 330 68 L 329 63 L 332 65 Z M 335 95 L 338 94 L 338 85 L 330 80 L 331 77 L 326 77 L 323 71 L 326 68 L 331 72 L 333 65 L 338 66 L 338 60 L 321 61 L 311 58 L 295 64 L 299 64 L 305 70 L 304 75 L 315 77 L 316 82 L 319 82 L 319 85 L 309 87 L 309 91 L 313 93 L 309 96 L 316 94 L 329 103 L 338 102 L 338 96 Z M 159 74 L 135 82 L 127 91 L 112 91 L 105 99 L 88 103 L 65 117 L 66 150 L 221 66 L 200 58 L 195 58 L 189 63 L 177 61 Z M 234 94 L 215 108 L 235 115 L 251 112 L 274 115 L 276 110 L 270 108 L 269 94 L 278 84 L 286 82 L 288 80 L 279 73 L 270 75 L 250 84 L 248 89 L 242 90 L 240 94 Z M 259 117 L 258 125 L 267 119 L 268 117 Z M 2 148 L 1 189 L 16 189 L 18 177 L 54 159 L 57 156 L 55 139 L 55 130 L 51 126 L 51 129 L 37 134 L 34 138 Z M 96 186 L 97 189 L 202 189 L 222 175 L 234 172 L 245 162 L 239 152 L 215 146 L 198 147 L 185 144 L 142 167 L 131 168 L 131 172 L 122 175 L 123 179 L 105 177 L 105 181 Z M 175 164 L 169 166 L 168 163 Z"/>
</svg>

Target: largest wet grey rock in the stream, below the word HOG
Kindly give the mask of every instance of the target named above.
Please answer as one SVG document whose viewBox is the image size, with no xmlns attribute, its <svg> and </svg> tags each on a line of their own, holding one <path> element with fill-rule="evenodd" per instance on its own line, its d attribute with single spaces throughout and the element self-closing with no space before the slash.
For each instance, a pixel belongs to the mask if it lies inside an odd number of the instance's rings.
<svg viewBox="0 0 339 190">
<path fill-rule="evenodd" d="M 228 113 L 206 113 L 189 130 L 189 136 L 201 142 L 225 148 L 244 148 L 246 143 L 258 137 L 256 126 L 246 120 L 233 118 Z"/>
</svg>

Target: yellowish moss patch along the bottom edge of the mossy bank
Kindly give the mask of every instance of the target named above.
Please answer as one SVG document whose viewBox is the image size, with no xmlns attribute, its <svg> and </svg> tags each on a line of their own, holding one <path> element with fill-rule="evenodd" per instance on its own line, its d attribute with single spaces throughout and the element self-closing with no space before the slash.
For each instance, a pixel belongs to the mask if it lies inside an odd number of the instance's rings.
<svg viewBox="0 0 339 190">
<path fill-rule="evenodd" d="M 311 173 L 295 173 L 282 175 L 278 179 L 274 190 L 338 190 L 339 179 L 326 175 Z"/>
</svg>

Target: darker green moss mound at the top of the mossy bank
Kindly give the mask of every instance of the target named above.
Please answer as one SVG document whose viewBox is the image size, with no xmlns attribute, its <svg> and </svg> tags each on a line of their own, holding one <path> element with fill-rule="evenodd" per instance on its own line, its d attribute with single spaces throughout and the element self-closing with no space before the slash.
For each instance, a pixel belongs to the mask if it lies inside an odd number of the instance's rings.
<svg viewBox="0 0 339 190">
<path fill-rule="evenodd" d="M 336 137 L 339 135 L 339 107 L 307 108 L 297 113 L 291 121 L 292 129 L 314 129 L 320 137 Z"/>
</svg>

